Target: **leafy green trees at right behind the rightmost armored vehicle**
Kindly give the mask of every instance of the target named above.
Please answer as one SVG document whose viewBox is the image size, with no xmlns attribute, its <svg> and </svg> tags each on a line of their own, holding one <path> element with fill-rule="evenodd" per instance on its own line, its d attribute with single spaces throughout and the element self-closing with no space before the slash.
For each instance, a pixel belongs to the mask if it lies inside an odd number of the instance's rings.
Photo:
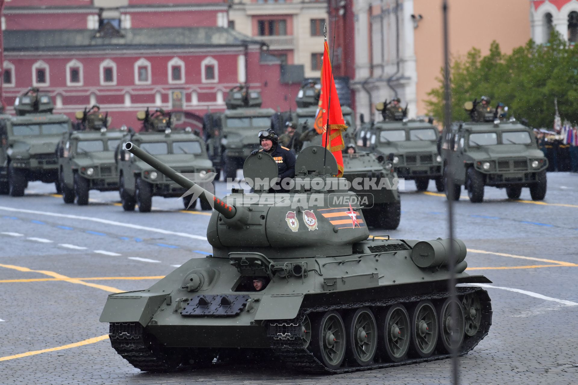
<svg viewBox="0 0 578 385">
<path fill-rule="evenodd" d="M 554 121 L 554 98 L 564 119 L 578 121 L 578 47 L 554 32 L 547 44 L 530 40 L 525 46 L 503 54 L 497 42 L 482 56 L 472 48 L 465 57 L 454 58 L 450 68 L 453 121 L 466 121 L 468 100 L 487 95 L 492 106 L 502 102 L 509 114 L 526 118 L 535 127 L 550 127 Z M 443 119 L 443 69 L 439 87 L 424 100 L 428 114 Z"/>
</svg>

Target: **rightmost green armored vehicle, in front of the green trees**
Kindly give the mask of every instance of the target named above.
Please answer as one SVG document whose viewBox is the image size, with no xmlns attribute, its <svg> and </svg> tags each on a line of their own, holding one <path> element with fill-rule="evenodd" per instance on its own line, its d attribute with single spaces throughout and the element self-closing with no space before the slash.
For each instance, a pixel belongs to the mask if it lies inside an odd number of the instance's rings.
<svg viewBox="0 0 578 385">
<path fill-rule="evenodd" d="M 538 148 L 533 130 L 515 119 L 490 122 L 458 122 L 443 135 L 446 185 L 454 182 L 454 199 L 460 199 L 461 186 L 472 202 L 484 200 L 484 186 L 506 188 L 510 199 L 518 199 L 529 187 L 533 200 L 546 196 L 548 160 Z M 451 158 L 453 174 L 447 170 Z M 446 193 L 449 199 L 449 194 Z"/>
</svg>

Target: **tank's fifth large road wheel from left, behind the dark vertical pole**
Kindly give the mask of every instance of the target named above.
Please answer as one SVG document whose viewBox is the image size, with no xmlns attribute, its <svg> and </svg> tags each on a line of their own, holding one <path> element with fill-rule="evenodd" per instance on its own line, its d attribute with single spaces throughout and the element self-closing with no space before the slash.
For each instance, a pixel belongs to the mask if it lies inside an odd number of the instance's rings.
<svg viewBox="0 0 578 385">
<path fill-rule="evenodd" d="M 452 306 L 454 304 L 454 306 Z M 460 301 L 447 298 L 438 313 L 439 347 L 450 353 L 464 341 L 464 311 Z"/>
</svg>

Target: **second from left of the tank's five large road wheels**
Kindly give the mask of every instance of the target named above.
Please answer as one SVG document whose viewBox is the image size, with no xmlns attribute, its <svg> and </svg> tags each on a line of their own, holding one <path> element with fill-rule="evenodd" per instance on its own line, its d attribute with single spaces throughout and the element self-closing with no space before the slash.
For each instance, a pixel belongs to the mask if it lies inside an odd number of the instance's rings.
<svg viewBox="0 0 578 385">
<path fill-rule="evenodd" d="M 377 351 L 377 323 L 369 308 L 359 308 L 345 318 L 346 356 L 351 362 L 366 367 L 373 364 Z"/>
</svg>

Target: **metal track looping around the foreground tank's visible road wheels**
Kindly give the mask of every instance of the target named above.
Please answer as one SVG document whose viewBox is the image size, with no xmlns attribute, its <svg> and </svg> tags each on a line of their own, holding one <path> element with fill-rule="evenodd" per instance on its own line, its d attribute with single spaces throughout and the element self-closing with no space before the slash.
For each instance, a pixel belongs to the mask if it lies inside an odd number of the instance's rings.
<svg viewBox="0 0 578 385">
<path fill-rule="evenodd" d="M 464 356 L 468 354 L 476 345 L 486 337 L 488 330 L 492 324 L 492 307 L 490 303 L 490 297 L 486 290 L 480 287 L 456 287 L 456 295 L 458 297 L 463 297 L 465 294 L 477 293 L 480 297 L 481 305 L 481 320 L 480 328 L 476 335 L 468 337 L 464 336 L 464 342 L 458 350 L 458 356 Z M 451 354 L 433 354 L 427 358 L 408 358 L 401 362 L 376 362 L 375 364 L 368 365 L 365 367 L 361 366 L 346 366 L 339 369 L 329 369 L 325 367 L 321 361 L 319 361 L 313 353 L 309 352 L 301 340 L 301 323 L 305 316 L 312 312 L 327 312 L 331 310 L 347 310 L 355 309 L 363 306 L 371 307 L 385 307 L 393 304 L 410 304 L 417 303 L 422 300 L 443 300 L 449 297 L 449 292 L 439 292 L 433 294 L 426 294 L 423 296 L 413 296 L 413 297 L 397 297 L 390 298 L 388 300 L 382 301 L 365 301 L 365 302 L 354 302 L 350 304 L 343 305 L 325 305 L 325 306 L 314 306 L 312 308 L 303 308 L 299 312 L 299 315 L 291 320 L 276 320 L 269 323 L 268 337 L 271 342 L 271 348 L 273 352 L 277 354 L 283 361 L 291 364 L 292 367 L 298 368 L 305 372 L 316 372 L 316 373 L 347 373 L 355 371 L 366 371 L 370 369 L 380 369 L 388 367 L 397 367 L 400 365 L 410 365 L 418 364 L 420 362 L 443 360 L 444 358 L 450 358 Z M 345 361 L 344 361 L 345 362 Z M 348 364 L 351 364 L 350 362 Z"/>
</svg>

